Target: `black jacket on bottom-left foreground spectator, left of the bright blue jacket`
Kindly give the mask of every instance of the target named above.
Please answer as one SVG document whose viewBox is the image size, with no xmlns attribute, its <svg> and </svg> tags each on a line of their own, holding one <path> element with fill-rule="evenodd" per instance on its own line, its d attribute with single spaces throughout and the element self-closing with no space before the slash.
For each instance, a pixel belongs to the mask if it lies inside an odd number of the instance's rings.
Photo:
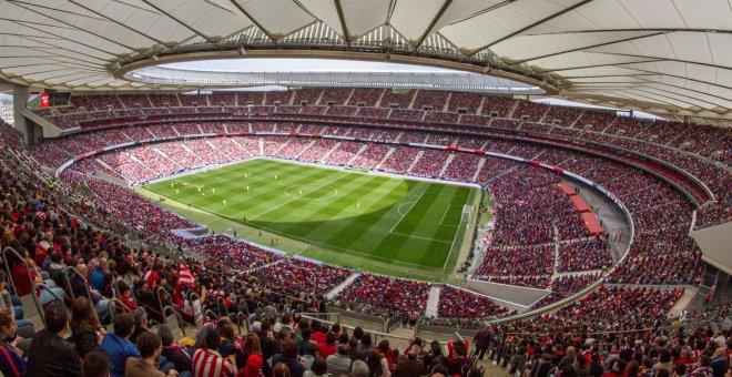
<svg viewBox="0 0 732 377">
<path fill-rule="evenodd" d="M 49 330 L 40 332 L 28 351 L 28 377 L 81 376 L 81 361 L 73 343 Z"/>
</svg>

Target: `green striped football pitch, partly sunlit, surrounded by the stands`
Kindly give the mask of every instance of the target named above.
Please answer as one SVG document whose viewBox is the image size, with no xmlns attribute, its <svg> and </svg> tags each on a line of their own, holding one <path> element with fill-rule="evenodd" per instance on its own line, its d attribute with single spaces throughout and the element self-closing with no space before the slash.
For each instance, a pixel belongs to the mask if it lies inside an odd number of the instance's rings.
<svg viewBox="0 0 732 377">
<path fill-rule="evenodd" d="M 468 186 L 273 160 L 250 160 L 144 190 L 165 197 L 162 204 L 184 216 L 190 217 L 186 207 L 195 208 L 337 255 L 321 257 L 324 262 L 350 255 L 433 271 L 445 269 L 450 256 L 457 257 L 478 193 Z"/>
</svg>

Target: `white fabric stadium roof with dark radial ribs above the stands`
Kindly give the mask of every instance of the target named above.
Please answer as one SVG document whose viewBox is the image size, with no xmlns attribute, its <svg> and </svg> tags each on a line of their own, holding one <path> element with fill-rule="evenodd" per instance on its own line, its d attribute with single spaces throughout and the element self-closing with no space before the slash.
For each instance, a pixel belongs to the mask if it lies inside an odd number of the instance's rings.
<svg viewBox="0 0 732 377">
<path fill-rule="evenodd" d="M 0 79 L 37 88 L 182 90 L 124 74 L 207 58 L 362 59 L 732 119 L 729 0 L 6 0 L 0 14 Z"/>
</svg>

